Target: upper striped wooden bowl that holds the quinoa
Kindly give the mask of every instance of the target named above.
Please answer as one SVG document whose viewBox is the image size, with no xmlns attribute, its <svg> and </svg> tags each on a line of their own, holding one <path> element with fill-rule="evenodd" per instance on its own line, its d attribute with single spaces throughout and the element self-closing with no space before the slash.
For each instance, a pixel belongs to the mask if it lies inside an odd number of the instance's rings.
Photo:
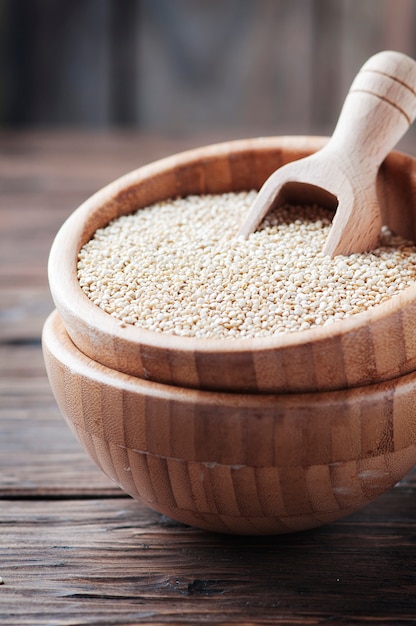
<svg viewBox="0 0 416 626">
<path fill-rule="evenodd" d="M 259 188 L 277 167 L 324 145 L 325 138 L 277 137 L 208 146 L 141 167 L 87 200 L 52 246 L 49 281 L 75 345 L 114 370 L 180 387 L 249 393 L 361 386 L 416 369 L 416 286 L 331 326 L 255 339 L 195 339 L 119 320 L 81 290 L 80 248 L 116 216 L 156 201 Z M 384 222 L 416 240 L 416 160 L 391 153 L 378 179 Z"/>
</svg>

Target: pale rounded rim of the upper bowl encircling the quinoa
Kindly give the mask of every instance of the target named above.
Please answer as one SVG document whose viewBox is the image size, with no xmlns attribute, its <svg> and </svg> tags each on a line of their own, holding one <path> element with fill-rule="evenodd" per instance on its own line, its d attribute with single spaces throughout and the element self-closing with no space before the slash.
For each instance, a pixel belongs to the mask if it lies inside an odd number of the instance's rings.
<svg viewBox="0 0 416 626">
<path fill-rule="evenodd" d="M 137 187 L 149 176 L 164 174 L 178 166 L 190 164 L 201 158 L 212 159 L 218 155 L 232 156 L 245 151 L 270 149 L 305 150 L 310 153 L 321 148 L 327 140 L 328 138 L 323 136 L 287 135 L 237 139 L 209 144 L 141 166 L 117 178 L 94 193 L 62 224 L 55 236 L 49 254 L 48 278 L 50 290 L 54 303 L 64 321 L 81 318 L 88 328 L 91 329 L 91 332 L 96 328 L 100 333 L 104 333 L 114 340 L 123 340 L 132 346 L 137 346 L 137 348 L 149 346 L 151 348 L 177 350 L 183 353 L 194 353 L 197 350 L 199 353 L 221 354 L 227 352 L 236 354 L 256 350 L 276 351 L 282 348 L 297 348 L 305 344 L 319 344 L 328 339 L 342 339 L 342 337 L 358 332 L 373 322 L 394 314 L 415 301 L 416 284 L 407 287 L 373 308 L 335 321 L 329 325 L 315 326 L 310 329 L 264 337 L 215 339 L 150 331 L 139 326 L 123 323 L 94 304 L 80 287 L 76 273 L 76 263 L 80 248 L 97 230 L 97 227 L 91 232 L 88 230 L 92 216 L 96 215 L 106 203 L 116 202 L 117 197 L 132 186 Z M 398 151 L 392 152 L 391 155 L 390 158 L 394 158 L 394 155 L 413 158 Z M 135 207 L 134 211 L 140 208 L 142 207 Z M 107 222 L 103 223 L 103 226 L 108 224 L 114 217 L 117 216 L 113 215 Z M 82 241 L 81 245 L 79 245 L 80 241 Z"/>
</svg>

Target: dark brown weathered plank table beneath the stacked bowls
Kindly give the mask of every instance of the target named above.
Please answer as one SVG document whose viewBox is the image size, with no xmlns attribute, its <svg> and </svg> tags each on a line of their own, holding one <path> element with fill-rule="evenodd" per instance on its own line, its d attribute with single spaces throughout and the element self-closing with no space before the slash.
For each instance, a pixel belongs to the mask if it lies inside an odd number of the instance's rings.
<svg viewBox="0 0 416 626">
<path fill-rule="evenodd" d="M 416 624 L 415 472 L 325 528 L 217 536 L 125 496 L 59 414 L 40 345 L 57 229 L 206 139 L 0 133 L 0 624 Z"/>
</svg>

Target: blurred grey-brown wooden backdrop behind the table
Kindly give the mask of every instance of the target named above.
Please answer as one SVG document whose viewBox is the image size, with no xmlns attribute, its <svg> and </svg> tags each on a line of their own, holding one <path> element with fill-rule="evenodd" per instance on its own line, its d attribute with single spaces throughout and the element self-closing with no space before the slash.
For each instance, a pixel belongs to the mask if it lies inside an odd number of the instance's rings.
<svg viewBox="0 0 416 626">
<path fill-rule="evenodd" d="M 2 128 L 330 133 L 414 0 L 0 0 Z"/>
</svg>

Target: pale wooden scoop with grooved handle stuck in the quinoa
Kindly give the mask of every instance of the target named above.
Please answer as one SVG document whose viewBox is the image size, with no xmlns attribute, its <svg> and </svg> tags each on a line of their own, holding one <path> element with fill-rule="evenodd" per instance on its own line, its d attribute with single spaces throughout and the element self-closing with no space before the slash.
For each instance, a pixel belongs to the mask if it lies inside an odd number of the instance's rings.
<svg viewBox="0 0 416 626">
<path fill-rule="evenodd" d="M 337 208 L 325 254 L 375 248 L 382 226 L 377 172 L 415 116 L 416 62 L 393 51 L 370 57 L 351 85 L 329 142 L 266 180 L 239 235 L 247 237 L 278 204 L 317 203 Z"/>
</svg>

